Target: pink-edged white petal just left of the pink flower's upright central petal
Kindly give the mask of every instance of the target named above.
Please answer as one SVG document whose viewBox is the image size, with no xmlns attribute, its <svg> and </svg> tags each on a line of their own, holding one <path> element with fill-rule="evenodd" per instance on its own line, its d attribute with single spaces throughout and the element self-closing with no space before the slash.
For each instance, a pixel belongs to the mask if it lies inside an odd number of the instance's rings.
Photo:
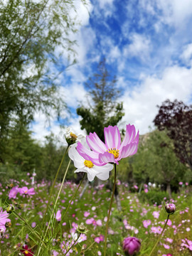
<svg viewBox="0 0 192 256">
<path fill-rule="evenodd" d="M 96 151 L 97 153 L 102 153 L 107 151 L 105 144 L 100 140 L 97 134 L 90 132 L 90 135 L 86 137 L 87 144 L 90 146 L 90 149 Z"/>
</svg>

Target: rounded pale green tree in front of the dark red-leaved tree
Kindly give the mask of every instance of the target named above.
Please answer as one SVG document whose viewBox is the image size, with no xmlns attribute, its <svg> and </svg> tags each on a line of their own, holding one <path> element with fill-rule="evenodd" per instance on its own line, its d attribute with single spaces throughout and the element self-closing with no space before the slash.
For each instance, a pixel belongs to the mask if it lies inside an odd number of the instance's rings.
<svg viewBox="0 0 192 256">
<path fill-rule="evenodd" d="M 177 186 L 188 170 L 176 157 L 173 142 L 166 132 L 158 130 L 146 134 L 141 140 L 132 166 L 137 182 L 151 181 L 166 186 Z"/>
</svg>

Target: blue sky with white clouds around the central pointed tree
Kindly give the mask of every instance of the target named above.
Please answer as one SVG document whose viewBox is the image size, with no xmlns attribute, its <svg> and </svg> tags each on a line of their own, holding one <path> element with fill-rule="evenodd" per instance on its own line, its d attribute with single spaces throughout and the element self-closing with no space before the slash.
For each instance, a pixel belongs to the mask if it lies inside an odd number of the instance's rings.
<svg viewBox="0 0 192 256">
<path fill-rule="evenodd" d="M 60 95 L 72 111 L 63 110 L 63 118 L 73 129 L 80 132 L 75 110 L 86 104 L 85 82 L 102 57 L 122 90 L 122 126 L 135 124 L 145 134 L 153 127 L 156 105 L 168 98 L 192 101 L 191 0 L 91 0 L 88 11 L 77 0 L 75 6 L 81 21 L 73 36 L 78 63 L 58 76 Z M 65 53 L 60 61 L 65 65 Z M 60 133 L 54 113 L 50 124 L 45 119 L 37 113 L 32 127 L 41 141 L 50 132 Z"/>
</svg>

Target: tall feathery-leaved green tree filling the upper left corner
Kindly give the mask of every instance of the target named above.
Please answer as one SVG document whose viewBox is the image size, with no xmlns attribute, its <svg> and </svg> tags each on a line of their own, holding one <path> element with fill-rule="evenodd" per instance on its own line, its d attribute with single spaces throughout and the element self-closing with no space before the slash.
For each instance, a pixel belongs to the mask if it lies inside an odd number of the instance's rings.
<svg viewBox="0 0 192 256">
<path fill-rule="evenodd" d="M 60 63 L 56 49 L 68 57 L 75 54 L 75 41 L 70 41 L 69 37 L 70 33 L 75 33 L 78 23 L 69 15 L 75 11 L 73 2 L 0 1 L 1 154 L 13 117 L 28 124 L 36 110 L 48 117 L 50 110 L 59 115 L 65 107 L 57 92 L 58 73 L 53 71 L 53 65 Z M 1 154 L 0 160 L 4 162 Z"/>
</svg>

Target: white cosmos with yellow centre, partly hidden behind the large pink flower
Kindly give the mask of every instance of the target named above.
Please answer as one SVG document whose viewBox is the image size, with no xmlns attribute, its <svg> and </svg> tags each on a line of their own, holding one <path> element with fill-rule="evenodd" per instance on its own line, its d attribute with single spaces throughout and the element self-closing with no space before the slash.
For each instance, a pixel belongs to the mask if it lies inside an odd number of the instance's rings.
<svg viewBox="0 0 192 256">
<path fill-rule="evenodd" d="M 81 140 L 81 143 L 83 144 L 83 146 L 87 147 L 87 149 L 90 150 L 85 138 Z M 112 171 L 113 165 L 106 164 L 105 166 L 96 166 L 95 164 L 92 164 L 92 161 L 88 161 L 80 156 L 76 149 L 76 146 L 76 143 L 73 144 L 69 150 L 69 157 L 71 160 L 73 160 L 74 165 L 77 168 L 75 173 L 78 173 L 80 171 L 87 173 L 87 178 L 89 181 L 93 181 L 95 176 L 97 176 L 97 178 L 100 178 L 100 180 L 102 181 L 106 181 L 110 177 L 110 171 Z"/>
</svg>

